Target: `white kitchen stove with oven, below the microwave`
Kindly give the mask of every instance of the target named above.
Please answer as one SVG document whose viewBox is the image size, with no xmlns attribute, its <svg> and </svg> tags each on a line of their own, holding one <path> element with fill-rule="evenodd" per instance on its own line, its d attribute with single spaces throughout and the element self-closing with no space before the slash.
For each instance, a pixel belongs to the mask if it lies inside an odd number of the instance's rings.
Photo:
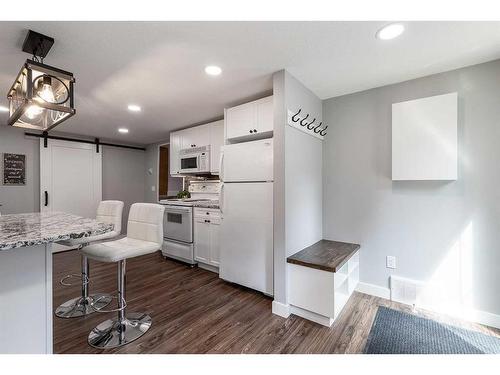
<svg viewBox="0 0 500 375">
<path fill-rule="evenodd" d="M 164 199 L 163 246 L 164 256 L 196 264 L 193 248 L 193 205 L 195 202 L 219 199 L 219 181 L 191 181 L 191 198 Z"/>
</svg>

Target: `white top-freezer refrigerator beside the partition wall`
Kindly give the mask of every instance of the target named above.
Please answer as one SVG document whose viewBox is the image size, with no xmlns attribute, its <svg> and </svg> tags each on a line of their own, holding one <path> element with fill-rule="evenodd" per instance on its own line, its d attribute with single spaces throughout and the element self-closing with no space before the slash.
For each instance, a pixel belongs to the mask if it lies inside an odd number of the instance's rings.
<svg viewBox="0 0 500 375">
<path fill-rule="evenodd" d="M 273 295 L 273 140 L 223 147 L 219 276 Z"/>
</svg>

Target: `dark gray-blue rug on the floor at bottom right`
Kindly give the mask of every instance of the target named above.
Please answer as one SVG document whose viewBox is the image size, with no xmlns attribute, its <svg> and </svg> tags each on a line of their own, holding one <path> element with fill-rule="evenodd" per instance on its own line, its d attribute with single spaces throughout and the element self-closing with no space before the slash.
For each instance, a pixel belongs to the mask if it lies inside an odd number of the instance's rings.
<svg viewBox="0 0 500 375">
<path fill-rule="evenodd" d="M 367 354 L 498 354 L 500 338 L 380 306 Z"/>
</svg>

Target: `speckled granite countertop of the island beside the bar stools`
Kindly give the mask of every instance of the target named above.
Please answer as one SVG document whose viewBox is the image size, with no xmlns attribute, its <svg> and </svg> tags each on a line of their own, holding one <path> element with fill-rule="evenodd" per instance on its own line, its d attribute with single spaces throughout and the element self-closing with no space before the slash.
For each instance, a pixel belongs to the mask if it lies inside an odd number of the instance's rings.
<svg viewBox="0 0 500 375">
<path fill-rule="evenodd" d="M 113 224 L 64 212 L 0 216 L 0 250 L 97 236 L 113 230 Z"/>
</svg>

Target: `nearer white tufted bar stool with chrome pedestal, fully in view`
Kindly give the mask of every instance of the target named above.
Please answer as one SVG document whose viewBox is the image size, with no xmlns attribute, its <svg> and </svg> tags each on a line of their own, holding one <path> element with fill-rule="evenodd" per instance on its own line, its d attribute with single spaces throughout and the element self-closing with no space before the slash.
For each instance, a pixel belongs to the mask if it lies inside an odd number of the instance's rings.
<svg viewBox="0 0 500 375">
<path fill-rule="evenodd" d="M 117 319 L 108 319 L 95 327 L 88 336 L 91 346 L 100 349 L 126 345 L 146 333 L 151 327 L 151 317 L 146 313 L 126 313 L 125 264 L 127 258 L 154 253 L 163 243 L 163 213 L 165 207 L 154 203 L 134 203 L 130 207 L 127 237 L 85 247 L 83 254 L 93 260 L 118 263 L 118 308 L 104 310 L 97 305 L 97 312 L 118 312 Z"/>
</svg>

